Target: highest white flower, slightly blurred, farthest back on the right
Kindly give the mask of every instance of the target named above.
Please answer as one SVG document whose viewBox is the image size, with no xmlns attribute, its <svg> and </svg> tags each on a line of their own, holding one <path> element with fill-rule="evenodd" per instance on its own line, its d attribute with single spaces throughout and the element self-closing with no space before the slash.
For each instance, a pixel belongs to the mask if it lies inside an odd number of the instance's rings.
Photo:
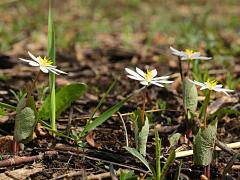
<svg viewBox="0 0 240 180">
<path fill-rule="evenodd" d="M 178 51 L 170 46 L 172 54 L 175 56 L 179 56 L 181 60 L 193 60 L 193 59 L 201 59 L 201 60 L 210 60 L 211 57 L 201 56 L 200 52 L 193 51 L 191 49 L 186 49 L 185 51 Z"/>
</svg>

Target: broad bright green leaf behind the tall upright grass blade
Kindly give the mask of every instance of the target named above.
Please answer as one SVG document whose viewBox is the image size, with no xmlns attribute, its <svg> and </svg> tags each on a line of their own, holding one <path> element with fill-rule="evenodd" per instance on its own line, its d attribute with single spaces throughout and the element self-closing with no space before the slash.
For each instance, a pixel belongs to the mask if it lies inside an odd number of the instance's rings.
<svg viewBox="0 0 240 180">
<path fill-rule="evenodd" d="M 65 109 L 71 106 L 73 101 L 78 100 L 87 90 L 87 85 L 82 83 L 70 84 L 61 88 L 56 93 L 56 114 L 60 116 Z M 50 113 L 50 96 L 48 96 L 39 110 L 39 118 L 49 119 Z"/>
</svg>

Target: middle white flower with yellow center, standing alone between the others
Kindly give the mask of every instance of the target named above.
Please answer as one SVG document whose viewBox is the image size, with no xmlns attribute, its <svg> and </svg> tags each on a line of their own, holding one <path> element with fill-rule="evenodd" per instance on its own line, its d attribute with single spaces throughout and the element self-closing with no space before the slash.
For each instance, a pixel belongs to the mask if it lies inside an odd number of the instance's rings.
<svg viewBox="0 0 240 180">
<path fill-rule="evenodd" d="M 162 76 L 162 77 L 156 77 L 157 76 L 157 70 L 154 69 L 152 71 L 147 70 L 147 72 L 143 72 L 141 69 L 136 67 L 136 72 L 125 68 L 127 75 L 130 79 L 134 79 L 137 81 L 140 81 L 140 83 L 144 86 L 149 86 L 151 84 L 154 84 L 156 86 L 164 87 L 162 84 L 164 83 L 172 83 L 173 81 L 167 81 L 167 79 L 170 76 Z"/>
</svg>

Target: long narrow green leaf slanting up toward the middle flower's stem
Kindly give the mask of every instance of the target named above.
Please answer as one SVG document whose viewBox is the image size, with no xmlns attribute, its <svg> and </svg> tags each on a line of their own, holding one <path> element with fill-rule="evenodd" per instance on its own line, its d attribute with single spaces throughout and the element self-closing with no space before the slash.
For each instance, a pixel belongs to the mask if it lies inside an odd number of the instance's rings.
<svg viewBox="0 0 240 180">
<path fill-rule="evenodd" d="M 89 131 L 93 130 L 97 126 L 100 126 L 102 123 L 104 123 L 106 120 L 108 120 L 114 113 L 119 111 L 119 109 L 123 106 L 123 104 L 125 102 L 127 102 L 129 100 L 129 98 L 130 98 L 130 96 L 126 97 L 125 99 L 123 99 L 122 101 L 118 102 L 117 104 L 115 104 L 114 106 L 112 106 L 111 108 L 106 110 L 104 113 L 102 113 L 93 122 L 90 122 L 89 124 L 87 124 L 84 127 L 83 131 L 80 133 L 80 136 L 81 137 L 85 136 L 86 133 L 88 133 Z"/>
</svg>

